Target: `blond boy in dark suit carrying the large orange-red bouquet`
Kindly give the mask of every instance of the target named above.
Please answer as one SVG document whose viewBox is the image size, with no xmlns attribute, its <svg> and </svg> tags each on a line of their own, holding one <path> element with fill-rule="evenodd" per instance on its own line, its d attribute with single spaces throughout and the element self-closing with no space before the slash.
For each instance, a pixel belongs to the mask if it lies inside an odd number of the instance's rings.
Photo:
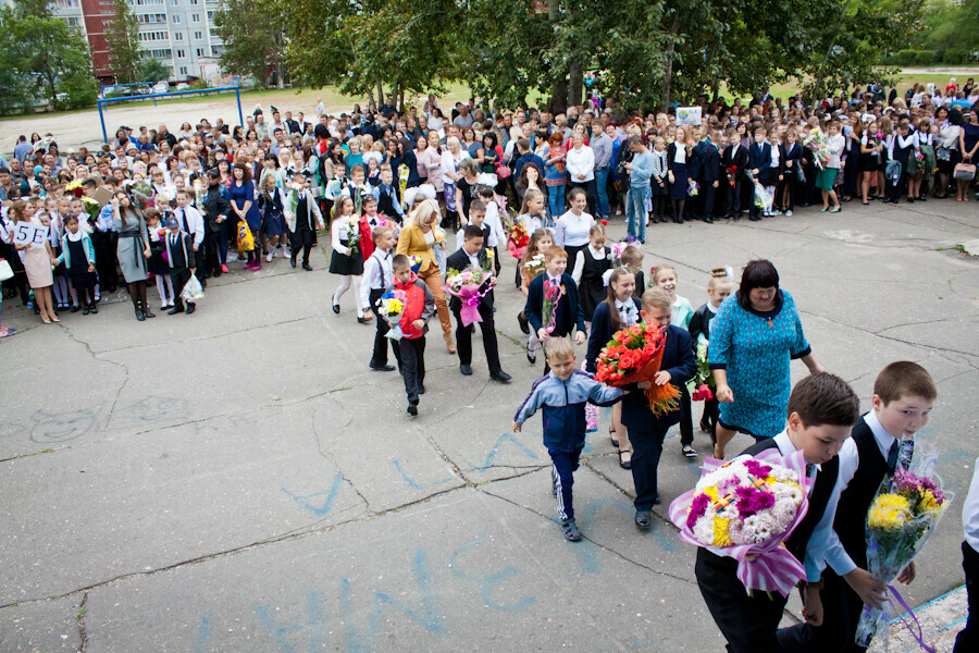
<svg viewBox="0 0 979 653">
<path fill-rule="evenodd" d="M 640 311 L 643 322 L 657 323 L 666 329 L 662 362 L 652 382 L 656 385 L 681 385 L 690 381 L 697 370 L 690 333 L 670 324 L 672 304 L 670 296 L 660 288 L 649 288 L 643 293 L 643 308 Z M 644 530 L 652 523 L 653 506 L 660 503 L 657 468 L 662 453 L 662 440 L 670 427 L 680 421 L 679 408 L 660 416 L 654 416 L 649 410 L 649 401 L 642 391 L 652 383 L 643 381 L 635 386 L 627 386 L 623 390 L 632 392 L 622 402 L 622 426 L 629 430 L 629 441 L 632 443 L 635 525 Z"/>
</svg>

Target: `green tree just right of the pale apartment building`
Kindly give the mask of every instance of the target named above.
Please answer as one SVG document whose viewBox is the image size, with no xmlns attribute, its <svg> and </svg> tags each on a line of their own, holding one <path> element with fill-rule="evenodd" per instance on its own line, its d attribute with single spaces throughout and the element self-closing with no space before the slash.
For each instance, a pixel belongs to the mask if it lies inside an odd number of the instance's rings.
<svg viewBox="0 0 979 653">
<path fill-rule="evenodd" d="M 214 12 L 214 26 L 224 41 L 221 69 L 232 75 L 252 77 L 265 88 L 265 69 L 272 67 L 282 88 L 285 49 L 282 26 L 287 14 L 293 13 L 292 8 L 284 0 L 222 0 Z M 317 22 L 309 15 L 305 17 Z"/>
</svg>

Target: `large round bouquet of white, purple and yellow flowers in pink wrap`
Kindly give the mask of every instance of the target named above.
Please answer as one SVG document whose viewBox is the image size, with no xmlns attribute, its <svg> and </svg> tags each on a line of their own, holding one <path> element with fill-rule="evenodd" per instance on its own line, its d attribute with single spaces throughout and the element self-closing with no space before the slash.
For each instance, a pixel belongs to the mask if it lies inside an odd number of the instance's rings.
<svg viewBox="0 0 979 653">
<path fill-rule="evenodd" d="M 670 520 L 687 544 L 736 559 L 748 592 L 788 596 L 806 571 L 783 542 L 805 517 L 813 483 L 803 452 L 782 458 L 772 448 L 728 463 L 707 458 L 696 486 L 670 504 Z"/>
</svg>

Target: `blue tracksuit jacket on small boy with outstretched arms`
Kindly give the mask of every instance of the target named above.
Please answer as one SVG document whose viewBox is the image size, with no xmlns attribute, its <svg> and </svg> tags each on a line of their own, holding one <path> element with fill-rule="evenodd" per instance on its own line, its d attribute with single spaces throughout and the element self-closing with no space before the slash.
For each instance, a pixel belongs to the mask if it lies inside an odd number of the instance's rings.
<svg viewBox="0 0 979 653">
<path fill-rule="evenodd" d="M 574 370 L 567 381 L 548 372 L 534 383 L 513 421 L 522 424 L 542 408 L 544 446 L 548 451 L 573 452 L 584 446 L 585 404 L 591 401 L 599 406 L 611 406 L 622 398 L 622 394 L 618 387 L 606 387 L 581 370 Z"/>
</svg>

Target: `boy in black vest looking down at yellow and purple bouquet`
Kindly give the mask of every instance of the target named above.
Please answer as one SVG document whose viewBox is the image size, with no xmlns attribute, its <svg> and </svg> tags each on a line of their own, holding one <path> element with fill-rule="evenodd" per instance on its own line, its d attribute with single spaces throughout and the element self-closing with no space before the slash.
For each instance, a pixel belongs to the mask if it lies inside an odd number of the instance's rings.
<svg viewBox="0 0 979 653">
<path fill-rule="evenodd" d="M 938 389 L 925 368 L 916 362 L 892 362 L 873 382 L 873 410 L 853 428 L 853 438 L 840 449 L 838 508 L 833 531 L 828 533 L 826 563 L 806 566 L 822 608 L 821 624 L 800 624 L 779 631 L 785 651 L 866 651 L 856 644 L 856 629 L 864 604 L 880 607 L 883 586 L 867 569 L 867 512 L 881 481 L 896 467 L 906 467 L 914 452 L 914 436 L 928 423 Z M 819 582 L 819 572 L 822 581 Z M 899 577 L 910 582 L 914 562 Z M 807 608 L 809 607 L 807 602 Z M 811 613 L 811 611 L 807 612 Z"/>
</svg>

